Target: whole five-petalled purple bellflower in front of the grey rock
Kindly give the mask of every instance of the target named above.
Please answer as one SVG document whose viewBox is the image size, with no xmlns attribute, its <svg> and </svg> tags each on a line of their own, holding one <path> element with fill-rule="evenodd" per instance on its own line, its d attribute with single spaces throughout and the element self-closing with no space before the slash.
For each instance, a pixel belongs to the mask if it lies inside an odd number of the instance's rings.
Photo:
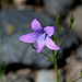
<svg viewBox="0 0 82 82">
<path fill-rule="evenodd" d="M 34 43 L 36 42 L 37 52 L 40 52 L 43 47 L 46 45 L 49 49 L 58 50 L 60 47 L 56 46 L 56 44 L 49 38 L 54 32 L 54 26 L 47 26 L 42 28 L 39 22 L 35 19 L 32 22 L 33 33 L 23 35 L 20 37 L 20 40 L 24 43 Z"/>
</svg>

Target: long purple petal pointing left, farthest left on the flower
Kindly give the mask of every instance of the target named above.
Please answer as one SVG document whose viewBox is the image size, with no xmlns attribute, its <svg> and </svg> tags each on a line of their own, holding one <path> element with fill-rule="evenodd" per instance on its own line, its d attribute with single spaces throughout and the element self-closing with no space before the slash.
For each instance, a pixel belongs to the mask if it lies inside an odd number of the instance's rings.
<svg viewBox="0 0 82 82">
<path fill-rule="evenodd" d="M 34 43 L 38 38 L 38 34 L 30 33 L 20 37 L 20 40 L 24 43 Z"/>
</svg>

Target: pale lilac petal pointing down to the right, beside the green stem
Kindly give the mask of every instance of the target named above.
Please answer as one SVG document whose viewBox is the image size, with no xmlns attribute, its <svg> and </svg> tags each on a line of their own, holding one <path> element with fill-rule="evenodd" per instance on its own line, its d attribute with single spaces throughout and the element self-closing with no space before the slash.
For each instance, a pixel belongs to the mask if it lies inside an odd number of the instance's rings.
<svg viewBox="0 0 82 82">
<path fill-rule="evenodd" d="M 46 37 L 46 46 L 54 50 L 60 49 L 48 36 Z"/>
</svg>

